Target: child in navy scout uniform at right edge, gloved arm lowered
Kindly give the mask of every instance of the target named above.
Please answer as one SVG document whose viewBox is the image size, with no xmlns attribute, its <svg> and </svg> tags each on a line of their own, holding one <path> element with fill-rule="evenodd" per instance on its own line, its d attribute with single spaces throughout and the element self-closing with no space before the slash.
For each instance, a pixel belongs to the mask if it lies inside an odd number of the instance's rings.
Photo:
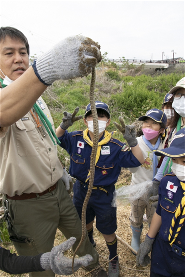
<svg viewBox="0 0 185 277">
<path fill-rule="evenodd" d="M 141 243 L 136 262 L 150 263 L 150 276 L 185 276 L 185 130 L 179 130 L 170 147 L 157 150 L 156 155 L 172 159 L 172 172 L 159 185 L 158 207 L 145 241 Z M 159 232 L 158 232 L 159 231 Z"/>
</svg>

